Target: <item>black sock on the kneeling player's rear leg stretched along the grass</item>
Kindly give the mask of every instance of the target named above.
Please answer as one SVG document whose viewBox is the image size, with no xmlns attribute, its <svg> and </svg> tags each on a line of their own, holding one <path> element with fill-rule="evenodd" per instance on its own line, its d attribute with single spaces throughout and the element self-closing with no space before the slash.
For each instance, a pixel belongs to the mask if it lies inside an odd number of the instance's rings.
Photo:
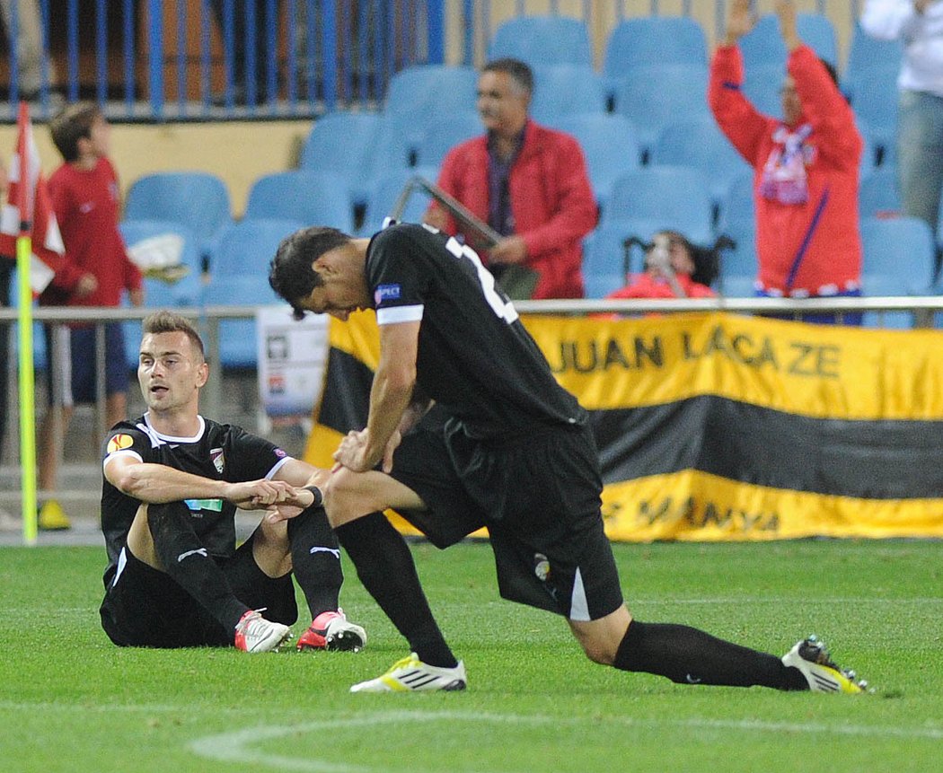
<svg viewBox="0 0 943 773">
<path fill-rule="evenodd" d="M 809 686 L 798 668 L 784 666 L 775 655 L 670 623 L 633 620 L 613 666 L 658 674 L 680 684 L 756 684 L 777 690 L 807 690 Z"/>
</svg>

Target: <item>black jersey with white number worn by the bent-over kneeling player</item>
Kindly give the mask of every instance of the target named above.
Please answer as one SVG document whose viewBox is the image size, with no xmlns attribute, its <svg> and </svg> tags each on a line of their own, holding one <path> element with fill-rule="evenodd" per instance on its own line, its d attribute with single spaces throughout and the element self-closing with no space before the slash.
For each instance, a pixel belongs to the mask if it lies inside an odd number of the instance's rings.
<svg viewBox="0 0 943 773">
<path fill-rule="evenodd" d="M 422 322 L 419 386 L 470 436 L 586 421 L 470 247 L 426 225 L 393 224 L 372 238 L 366 271 L 380 325 Z"/>
</svg>

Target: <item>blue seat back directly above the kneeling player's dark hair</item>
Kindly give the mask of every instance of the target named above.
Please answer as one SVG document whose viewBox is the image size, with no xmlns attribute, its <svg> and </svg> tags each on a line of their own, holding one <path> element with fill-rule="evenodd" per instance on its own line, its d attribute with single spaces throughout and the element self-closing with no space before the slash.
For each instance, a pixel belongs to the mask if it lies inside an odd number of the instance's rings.
<svg viewBox="0 0 943 773">
<path fill-rule="evenodd" d="M 249 189 L 243 220 L 294 220 L 354 233 L 354 201 L 337 172 L 292 170 L 259 177 Z"/>
</svg>

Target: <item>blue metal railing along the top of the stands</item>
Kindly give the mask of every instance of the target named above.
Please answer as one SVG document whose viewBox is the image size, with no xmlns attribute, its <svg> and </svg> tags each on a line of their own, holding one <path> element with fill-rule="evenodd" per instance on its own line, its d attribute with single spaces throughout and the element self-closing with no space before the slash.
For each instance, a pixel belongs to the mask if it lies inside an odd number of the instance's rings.
<svg viewBox="0 0 943 773">
<path fill-rule="evenodd" d="M 599 53 L 613 25 L 646 13 L 696 16 L 716 40 L 728 2 L 84 0 L 80 9 L 79 0 L 36 0 L 29 19 L 20 16 L 26 4 L 11 2 L 5 26 L 15 44 L 8 45 L 8 107 L 0 120 L 15 121 L 21 98 L 34 101 L 40 120 L 63 98 L 93 99 L 113 121 L 306 118 L 377 107 L 390 76 L 407 65 L 481 64 L 508 15 L 582 18 Z M 766 0 L 754 5 L 771 8 Z M 851 18 L 860 5 L 852 0 Z M 837 6 L 810 0 L 802 9 L 847 26 Z"/>
</svg>

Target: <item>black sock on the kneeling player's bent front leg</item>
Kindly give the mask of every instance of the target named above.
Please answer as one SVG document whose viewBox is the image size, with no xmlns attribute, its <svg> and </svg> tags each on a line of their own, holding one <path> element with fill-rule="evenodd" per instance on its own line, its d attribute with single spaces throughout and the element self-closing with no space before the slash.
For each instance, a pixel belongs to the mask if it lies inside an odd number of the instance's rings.
<svg viewBox="0 0 943 773">
<path fill-rule="evenodd" d="M 458 661 L 432 617 L 409 546 L 386 516 L 371 513 L 335 531 L 360 582 L 404 635 L 410 649 L 429 666 L 456 666 Z"/>
</svg>

